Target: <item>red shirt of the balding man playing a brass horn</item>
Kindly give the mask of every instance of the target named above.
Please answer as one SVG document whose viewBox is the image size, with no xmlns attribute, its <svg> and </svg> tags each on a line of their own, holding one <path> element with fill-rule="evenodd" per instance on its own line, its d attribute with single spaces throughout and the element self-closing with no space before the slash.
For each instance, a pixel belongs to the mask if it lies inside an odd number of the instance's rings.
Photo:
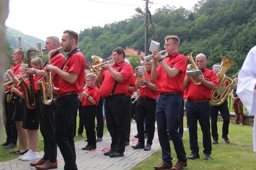
<svg viewBox="0 0 256 170">
<path fill-rule="evenodd" d="M 216 76 L 216 73 L 214 71 L 207 69 L 206 67 L 201 69 L 201 71 L 205 80 L 211 81 L 218 86 L 218 77 Z M 211 93 L 212 89 L 209 89 L 203 84 L 196 85 L 191 81 L 191 79 L 189 79 L 184 98 L 195 101 L 205 99 L 211 100 Z"/>
</svg>

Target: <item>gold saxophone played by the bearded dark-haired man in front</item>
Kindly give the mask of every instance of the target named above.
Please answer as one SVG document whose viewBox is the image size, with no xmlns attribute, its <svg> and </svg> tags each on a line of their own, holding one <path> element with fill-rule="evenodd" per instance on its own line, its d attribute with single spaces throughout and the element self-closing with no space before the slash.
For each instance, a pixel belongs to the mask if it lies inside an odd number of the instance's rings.
<svg viewBox="0 0 256 170">
<path fill-rule="evenodd" d="M 52 65 L 52 53 L 58 50 L 62 50 L 63 47 L 59 47 L 57 49 L 51 50 L 48 52 L 48 64 Z M 46 82 L 44 81 L 44 77 L 37 81 L 41 89 L 41 97 L 42 102 L 46 105 L 51 105 L 53 102 L 56 101 L 54 97 L 54 86 L 53 86 L 53 73 L 52 71 L 46 71 Z"/>
</svg>

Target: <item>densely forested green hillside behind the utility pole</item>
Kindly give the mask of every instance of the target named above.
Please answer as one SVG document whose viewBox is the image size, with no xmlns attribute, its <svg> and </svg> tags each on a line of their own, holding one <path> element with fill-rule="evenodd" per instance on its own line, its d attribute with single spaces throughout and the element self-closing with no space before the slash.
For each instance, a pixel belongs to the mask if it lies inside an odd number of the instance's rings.
<svg viewBox="0 0 256 170">
<path fill-rule="evenodd" d="M 237 75 L 248 51 L 256 45 L 256 0 L 201 0 L 192 11 L 166 5 L 151 13 L 161 49 L 166 35 L 177 35 L 179 52 L 193 52 L 194 59 L 204 53 L 208 68 L 221 63 L 219 56 L 236 62 L 226 74 L 230 77 Z M 148 21 L 149 47 L 155 37 Z M 104 27 L 86 28 L 80 32 L 79 48 L 86 60 L 93 54 L 106 58 L 120 46 L 144 51 L 143 23 L 144 16 L 136 14 Z"/>
</svg>

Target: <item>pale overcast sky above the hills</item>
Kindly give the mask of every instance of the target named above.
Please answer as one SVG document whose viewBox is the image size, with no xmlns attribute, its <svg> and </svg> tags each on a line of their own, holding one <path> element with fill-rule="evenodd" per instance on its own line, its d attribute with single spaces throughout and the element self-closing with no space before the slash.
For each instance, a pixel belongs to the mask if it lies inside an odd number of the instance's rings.
<svg viewBox="0 0 256 170">
<path fill-rule="evenodd" d="M 198 0 L 149 0 L 151 14 L 155 9 L 169 4 L 190 10 Z M 104 26 L 114 21 L 130 18 L 144 11 L 145 0 L 9 0 L 9 16 L 6 26 L 17 29 L 45 41 L 50 35 L 61 39 L 62 32 L 70 29 L 76 32 Z"/>
</svg>

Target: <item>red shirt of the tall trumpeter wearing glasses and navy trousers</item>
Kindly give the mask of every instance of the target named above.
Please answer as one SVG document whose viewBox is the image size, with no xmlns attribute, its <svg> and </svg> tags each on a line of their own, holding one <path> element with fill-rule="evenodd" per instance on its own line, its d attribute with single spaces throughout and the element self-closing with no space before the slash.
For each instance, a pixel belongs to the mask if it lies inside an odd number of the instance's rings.
<svg viewBox="0 0 256 170">
<path fill-rule="evenodd" d="M 182 88 L 186 71 L 187 71 L 187 59 L 185 56 L 180 55 L 179 52 L 174 52 L 171 55 L 168 55 L 164 61 L 171 68 L 177 68 L 180 72 L 173 78 L 170 78 L 163 68 L 161 64 L 159 64 L 157 68 L 158 72 L 158 92 L 160 93 L 176 93 L 180 92 L 181 95 L 184 93 Z"/>
</svg>

